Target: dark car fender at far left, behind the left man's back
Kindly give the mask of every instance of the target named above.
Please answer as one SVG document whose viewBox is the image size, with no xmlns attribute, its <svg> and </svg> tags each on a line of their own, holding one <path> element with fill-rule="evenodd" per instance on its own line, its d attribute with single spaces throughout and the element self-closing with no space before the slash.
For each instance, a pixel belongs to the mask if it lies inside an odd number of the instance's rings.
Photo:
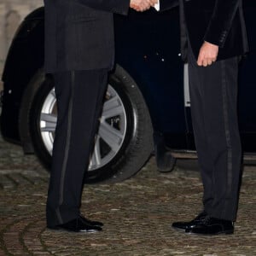
<svg viewBox="0 0 256 256">
<path fill-rule="evenodd" d="M 23 92 L 44 64 L 44 9 L 37 9 L 20 24 L 3 70 L 3 137 L 20 143 L 19 111 Z"/>
</svg>

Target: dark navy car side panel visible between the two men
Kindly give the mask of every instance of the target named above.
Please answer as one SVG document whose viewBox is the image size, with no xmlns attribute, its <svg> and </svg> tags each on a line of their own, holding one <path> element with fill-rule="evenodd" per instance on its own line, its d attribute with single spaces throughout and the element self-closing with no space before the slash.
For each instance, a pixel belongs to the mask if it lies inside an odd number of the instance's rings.
<svg viewBox="0 0 256 256">
<path fill-rule="evenodd" d="M 154 131 L 170 148 L 187 148 L 178 8 L 116 15 L 115 38 L 116 62 L 142 91 Z"/>
</svg>

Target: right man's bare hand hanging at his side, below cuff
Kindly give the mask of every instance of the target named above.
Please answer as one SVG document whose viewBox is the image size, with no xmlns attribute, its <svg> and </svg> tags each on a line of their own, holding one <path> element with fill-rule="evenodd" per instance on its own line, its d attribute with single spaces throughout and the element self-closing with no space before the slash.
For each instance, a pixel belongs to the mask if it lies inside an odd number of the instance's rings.
<svg viewBox="0 0 256 256">
<path fill-rule="evenodd" d="M 217 60 L 218 45 L 205 42 L 199 51 L 197 65 L 207 67 Z"/>
</svg>

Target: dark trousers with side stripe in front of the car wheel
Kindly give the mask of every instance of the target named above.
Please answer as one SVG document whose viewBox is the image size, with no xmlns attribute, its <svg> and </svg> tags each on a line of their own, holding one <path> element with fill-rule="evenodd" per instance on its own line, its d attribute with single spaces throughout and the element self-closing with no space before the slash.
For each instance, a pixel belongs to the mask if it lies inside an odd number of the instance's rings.
<svg viewBox="0 0 256 256">
<path fill-rule="evenodd" d="M 108 70 L 55 73 L 58 119 L 46 207 L 48 226 L 79 216 Z"/>
</svg>

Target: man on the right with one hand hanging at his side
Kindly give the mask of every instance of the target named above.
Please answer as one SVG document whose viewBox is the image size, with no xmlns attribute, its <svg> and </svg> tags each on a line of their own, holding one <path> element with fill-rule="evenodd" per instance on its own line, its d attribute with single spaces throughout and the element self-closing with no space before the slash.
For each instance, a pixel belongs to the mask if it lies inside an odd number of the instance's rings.
<svg viewBox="0 0 256 256">
<path fill-rule="evenodd" d="M 177 5 L 204 208 L 192 221 L 172 226 L 201 235 L 233 234 L 241 171 L 237 73 L 248 50 L 242 1 L 160 0 L 161 10 Z"/>
</svg>

